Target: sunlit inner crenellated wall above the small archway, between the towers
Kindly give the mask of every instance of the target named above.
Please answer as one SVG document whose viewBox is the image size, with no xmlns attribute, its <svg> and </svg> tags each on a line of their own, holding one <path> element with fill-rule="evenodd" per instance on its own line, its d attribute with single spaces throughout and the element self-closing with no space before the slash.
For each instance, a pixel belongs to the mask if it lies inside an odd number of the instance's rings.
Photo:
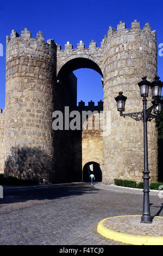
<svg viewBox="0 0 163 256">
<path fill-rule="evenodd" d="M 77 106 L 77 110 L 81 113 L 81 116 L 82 116 L 82 111 L 87 111 L 87 113 L 89 113 L 89 111 L 91 111 L 92 113 L 94 111 L 96 112 L 94 115 L 91 115 L 89 117 L 87 116 L 86 120 L 83 123 L 83 126 L 81 127 L 83 128 L 82 132 L 79 131 L 78 136 L 76 135 L 75 142 L 74 142 L 74 155 L 75 155 L 74 166 L 76 167 L 76 171 L 78 172 L 81 171 L 81 168 L 83 171 L 84 165 L 89 162 L 98 163 L 101 166 L 101 170 L 102 170 L 103 102 L 100 101 L 98 102 L 98 105 L 95 106 L 95 103 L 91 101 L 89 102 L 88 106 L 85 106 L 85 103 L 81 101 L 79 102 L 79 106 Z"/>
</svg>

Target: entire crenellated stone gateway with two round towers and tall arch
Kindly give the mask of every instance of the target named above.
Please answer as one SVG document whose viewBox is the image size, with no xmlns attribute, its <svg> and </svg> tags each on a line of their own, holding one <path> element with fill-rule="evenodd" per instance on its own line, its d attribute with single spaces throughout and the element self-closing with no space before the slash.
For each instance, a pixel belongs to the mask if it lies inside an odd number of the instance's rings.
<svg viewBox="0 0 163 256">
<path fill-rule="evenodd" d="M 104 101 L 97 106 L 92 101 L 77 106 L 73 71 L 79 68 L 91 68 L 102 76 Z M 141 111 L 137 82 L 145 75 L 149 81 L 157 75 L 156 33 L 149 23 L 140 29 L 135 20 L 127 29 L 121 21 L 117 31 L 109 27 L 101 47 L 92 40 L 88 49 L 80 41 L 77 49 L 67 42 L 62 50 L 53 39 L 46 43 L 40 31 L 32 38 L 27 28 L 21 36 L 12 30 L 7 37 L 5 110 L 0 113 L 1 173 L 58 183 L 86 181 L 93 170 L 104 184 L 114 178 L 142 181 L 143 123 L 120 117 L 114 97 L 123 91 L 128 98 L 126 112 Z M 86 118 L 85 129 L 53 130 L 53 112 L 64 112 L 66 106 L 70 111 L 97 111 L 92 128 L 87 129 Z M 95 129 L 101 118 L 103 128 Z M 148 124 L 151 181 L 158 179 L 157 135 L 152 121 Z"/>
</svg>

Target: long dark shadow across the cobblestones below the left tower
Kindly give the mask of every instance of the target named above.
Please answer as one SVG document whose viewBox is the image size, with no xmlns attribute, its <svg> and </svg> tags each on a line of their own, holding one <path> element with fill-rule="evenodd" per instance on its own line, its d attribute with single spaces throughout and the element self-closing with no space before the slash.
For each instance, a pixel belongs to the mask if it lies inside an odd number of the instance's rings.
<svg viewBox="0 0 163 256">
<path fill-rule="evenodd" d="M 97 193 L 97 188 L 91 186 L 91 183 L 78 184 L 57 184 L 54 186 L 18 188 L 4 190 L 3 199 L 0 199 L 0 213 L 14 210 L 17 204 L 20 207 L 26 207 L 26 202 L 35 201 L 34 205 L 45 203 L 49 200 L 56 200 L 65 197 L 77 197 L 82 194 Z M 23 203 L 23 204 L 22 204 Z M 7 207 L 12 204 L 13 207 Z M 5 207 L 4 207 L 5 205 Z M 14 206 L 15 205 L 15 206 Z M 28 205 L 27 205 L 28 206 Z M 17 209 L 16 207 L 16 209 Z M 2 209 L 3 208 L 3 209 Z M 5 208 L 5 209 L 4 209 Z"/>
</svg>

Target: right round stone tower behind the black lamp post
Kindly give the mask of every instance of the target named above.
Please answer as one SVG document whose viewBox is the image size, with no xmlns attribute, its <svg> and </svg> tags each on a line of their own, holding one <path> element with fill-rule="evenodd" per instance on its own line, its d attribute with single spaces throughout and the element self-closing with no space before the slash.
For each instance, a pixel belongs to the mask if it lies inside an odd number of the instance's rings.
<svg viewBox="0 0 163 256">
<path fill-rule="evenodd" d="M 149 23 L 140 29 L 140 23 L 135 20 L 126 29 L 125 23 L 120 22 L 117 31 L 109 28 L 103 47 L 104 112 L 109 118 L 109 128 L 103 136 L 103 183 L 112 183 L 114 178 L 142 181 L 143 122 L 121 117 L 114 97 L 120 91 L 127 96 L 125 112 L 142 110 L 137 82 L 145 75 L 153 81 L 157 73 L 156 34 Z M 148 106 L 151 99 L 150 90 Z M 148 122 L 148 156 L 150 181 L 156 181 L 158 147 L 154 120 Z"/>
</svg>

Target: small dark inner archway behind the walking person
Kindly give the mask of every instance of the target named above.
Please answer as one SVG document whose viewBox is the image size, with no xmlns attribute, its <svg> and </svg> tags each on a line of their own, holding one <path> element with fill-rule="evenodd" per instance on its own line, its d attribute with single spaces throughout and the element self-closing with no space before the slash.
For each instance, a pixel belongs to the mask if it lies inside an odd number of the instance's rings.
<svg viewBox="0 0 163 256">
<path fill-rule="evenodd" d="M 95 175 L 96 181 L 102 181 L 102 171 L 100 165 L 96 162 L 89 162 L 83 168 L 83 181 L 90 181 L 90 174 Z"/>
</svg>

